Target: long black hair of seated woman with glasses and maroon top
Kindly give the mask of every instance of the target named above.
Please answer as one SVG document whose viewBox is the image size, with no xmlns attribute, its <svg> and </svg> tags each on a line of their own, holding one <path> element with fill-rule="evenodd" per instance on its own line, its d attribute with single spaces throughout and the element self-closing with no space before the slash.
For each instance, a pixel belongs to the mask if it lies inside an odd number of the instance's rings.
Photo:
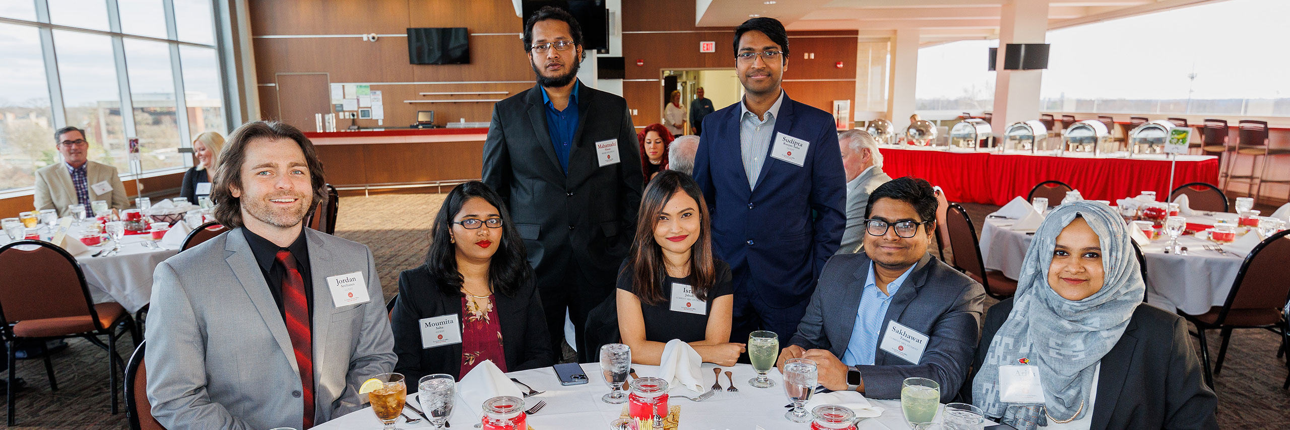
<svg viewBox="0 0 1290 430">
<path fill-rule="evenodd" d="M 457 270 L 457 245 L 452 242 L 453 219 L 462 206 L 471 198 L 482 198 L 489 205 L 497 207 L 502 215 L 502 241 L 498 243 L 497 254 L 489 261 L 488 281 L 494 292 L 501 292 L 507 297 L 513 297 L 520 286 L 533 279 L 533 268 L 529 266 L 528 256 L 524 251 L 524 241 L 520 232 L 511 221 L 511 214 L 502 197 L 489 185 L 479 180 L 472 180 L 457 185 L 444 198 L 444 205 L 439 207 L 435 224 L 431 227 L 430 252 L 426 254 L 426 266 L 439 281 L 439 288 L 444 295 L 462 296 L 462 273 Z M 488 228 L 488 225 L 480 225 Z"/>
</svg>

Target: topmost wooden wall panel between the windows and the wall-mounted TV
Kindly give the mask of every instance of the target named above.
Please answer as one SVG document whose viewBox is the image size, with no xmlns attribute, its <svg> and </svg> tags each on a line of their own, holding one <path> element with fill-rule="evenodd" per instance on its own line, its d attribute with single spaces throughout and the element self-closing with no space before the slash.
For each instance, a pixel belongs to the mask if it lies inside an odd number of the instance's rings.
<svg viewBox="0 0 1290 430">
<path fill-rule="evenodd" d="M 402 33 L 408 28 L 406 0 L 255 0 L 250 28 L 263 35 Z M 360 40 L 361 41 L 361 40 Z"/>
</svg>

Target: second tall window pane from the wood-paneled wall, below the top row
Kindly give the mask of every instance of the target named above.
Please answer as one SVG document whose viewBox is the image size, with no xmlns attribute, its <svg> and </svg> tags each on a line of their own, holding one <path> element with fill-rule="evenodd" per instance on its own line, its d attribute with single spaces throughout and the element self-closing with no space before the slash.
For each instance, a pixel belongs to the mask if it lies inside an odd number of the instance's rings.
<svg viewBox="0 0 1290 430">
<path fill-rule="evenodd" d="M 184 139 L 179 138 L 175 117 L 170 46 L 126 39 L 125 64 L 130 77 L 134 133 L 139 138 L 139 162 L 143 170 L 182 166 L 183 157 L 175 148 Z"/>
</svg>

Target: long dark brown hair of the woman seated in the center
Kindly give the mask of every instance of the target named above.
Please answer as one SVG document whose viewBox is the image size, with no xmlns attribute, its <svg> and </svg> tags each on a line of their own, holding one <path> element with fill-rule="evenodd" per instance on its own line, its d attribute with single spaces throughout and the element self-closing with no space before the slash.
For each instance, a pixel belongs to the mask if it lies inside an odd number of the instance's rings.
<svg viewBox="0 0 1290 430">
<path fill-rule="evenodd" d="M 712 257 L 712 233 L 710 232 L 708 205 L 703 201 L 703 192 L 694 178 L 675 170 L 662 170 L 654 180 L 645 187 L 645 196 L 641 197 L 640 215 L 636 220 L 636 238 L 632 251 L 627 256 L 631 261 L 632 291 L 642 303 L 654 305 L 663 301 L 663 281 L 667 278 L 667 266 L 663 263 L 663 247 L 654 238 L 654 227 L 658 225 L 658 214 L 663 206 L 672 200 L 676 192 L 685 192 L 698 203 L 699 207 L 699 239 L 690 247 L 690 276 L 694 282 L 694 295 L 699 300 L 708 300 L 708 290 L 716 283 L 716 266 Z M 624 268 L 624 270 L 627 269 Z"/>
</svg>

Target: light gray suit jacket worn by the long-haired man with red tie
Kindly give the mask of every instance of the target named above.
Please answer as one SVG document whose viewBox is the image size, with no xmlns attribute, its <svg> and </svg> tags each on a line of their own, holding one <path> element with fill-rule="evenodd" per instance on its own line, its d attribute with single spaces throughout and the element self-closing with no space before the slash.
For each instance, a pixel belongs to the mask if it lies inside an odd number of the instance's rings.
<svg viewBox="0 0 1290 430">
<path fill-rule="evenodd" d="M 366 246 L 306 229 L 313 283 L 315 424 L 359 409 L 362 381 L 396 357 Z M 364 304 L 333 306 L 326 278 L 361 272 Z M 148 400 L 168 429 L 299 427 L 301 377 L 286 324 L 243 229 L 166 259 L 154 273 Z"/>
</svg>

